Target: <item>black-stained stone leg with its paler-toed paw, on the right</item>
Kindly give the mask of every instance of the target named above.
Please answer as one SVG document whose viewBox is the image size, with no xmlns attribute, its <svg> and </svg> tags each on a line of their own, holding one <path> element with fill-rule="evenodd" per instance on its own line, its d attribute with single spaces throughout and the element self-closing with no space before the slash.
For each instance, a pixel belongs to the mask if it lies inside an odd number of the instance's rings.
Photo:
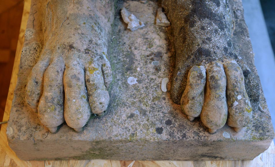
<svg viewBox="0 0 275 167">
<path fill-rule="evenodd" d="M 226 122 L 240 131 L 251 120 L 252 107 L 258 107 L 259 85 L 235 53 L 231 37 L 238 18 L 227 0 L 171 0 L 162 5 L 176 49 L 172 100 L 181 103 L 189 120 L 200 116 L 210 133 Z"/>
</svg>

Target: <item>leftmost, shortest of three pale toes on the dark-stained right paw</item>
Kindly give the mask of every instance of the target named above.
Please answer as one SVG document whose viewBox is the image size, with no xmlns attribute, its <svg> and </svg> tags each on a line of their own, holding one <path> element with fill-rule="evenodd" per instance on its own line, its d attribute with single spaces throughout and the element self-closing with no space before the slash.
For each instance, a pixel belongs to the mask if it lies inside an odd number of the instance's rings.
<svg viewBox="0 0 275 167">
<path fill-rule="evenodd" d="M 204 101 L 205 67 L 193 66 L 187 76 L 187 85 L 181 97 L 181 110 L 190 121 L 199 117 Z"/>
</svg>

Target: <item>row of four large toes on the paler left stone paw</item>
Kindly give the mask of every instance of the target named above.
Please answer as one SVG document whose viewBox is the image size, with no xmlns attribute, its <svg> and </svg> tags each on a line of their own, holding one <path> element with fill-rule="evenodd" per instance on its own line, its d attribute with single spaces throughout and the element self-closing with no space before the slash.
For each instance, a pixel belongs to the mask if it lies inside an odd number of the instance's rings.
<svg viewBox="0 0 275 167">
<path fill-rule="evenodd" d="M 64 121 L 81 131 L 91 111 L 100 115 L 109 103 L 101 68 L 90 64 L 84 72 L 75 63 L 65 69 L 62 57 L 55 57 L 52 62 L 45 57 L 41 56 L 28 78 L 26 102 L 34 110 L 37 108 L 41 123 L 50 132 L 56 132 Z"/>
</svg>

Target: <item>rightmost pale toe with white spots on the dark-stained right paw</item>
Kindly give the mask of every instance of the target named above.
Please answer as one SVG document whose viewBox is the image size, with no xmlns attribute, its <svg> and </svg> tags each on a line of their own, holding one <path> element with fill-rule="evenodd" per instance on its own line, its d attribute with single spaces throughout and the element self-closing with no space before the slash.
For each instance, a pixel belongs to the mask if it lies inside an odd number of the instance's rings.
<svg viewBox="0 0 275 167">
<path fill-rule="evenodd" d="M 227 77 L 227 125 L 239 132 L 252 118 L 252 108 L 244 86 L 244 75 L 235 60 L 223 64 Z"/>
</svg>

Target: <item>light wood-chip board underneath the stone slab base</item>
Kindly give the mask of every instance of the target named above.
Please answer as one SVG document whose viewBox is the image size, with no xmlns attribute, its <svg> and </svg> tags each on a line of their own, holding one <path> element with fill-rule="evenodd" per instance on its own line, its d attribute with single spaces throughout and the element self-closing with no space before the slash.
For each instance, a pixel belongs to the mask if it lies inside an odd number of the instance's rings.
<svg viewBox="0 0 275 167">
<path fill-rule="evenodd" d="M 5 113 L 3 120 L 8 120 L 10 109 L 12 105 L 12 98 L 14 88 L 16 86 L 18 67 L 20 63 L 21 50 L 24 42 L 24 33 L 26 29 L 26 23 L 29 16 L 29 9 L 31 0 L 24 1 L 24 10 L 22 15 L 22 22 L 20 28 L 20 34 L 17 45 L 16 57 L 14 60 L 14 67 L 12 72 L 12 79 L 10 82 L 10 89 L 7 97 L 7 103 L 5 107 Z M 110 161 L 110 160 L 68 160 L 68 161 L 22 161 L 16 154 L 10 149 L 7 143 L 6 136 L 7 124 L 3 124 L 0 132 L 0 166 L 38 166 L 38 167 L 54 167 L 54 166 L 125 166 L 125 167 L 136 167 L 136 166 L 167 166 L 167 167 L 180 167 L 180 166 L 275 166 L 275 146 L 272 142 L 269 149 L 264 153 L 260 154 L 252 161 Z"/>
</svg>

